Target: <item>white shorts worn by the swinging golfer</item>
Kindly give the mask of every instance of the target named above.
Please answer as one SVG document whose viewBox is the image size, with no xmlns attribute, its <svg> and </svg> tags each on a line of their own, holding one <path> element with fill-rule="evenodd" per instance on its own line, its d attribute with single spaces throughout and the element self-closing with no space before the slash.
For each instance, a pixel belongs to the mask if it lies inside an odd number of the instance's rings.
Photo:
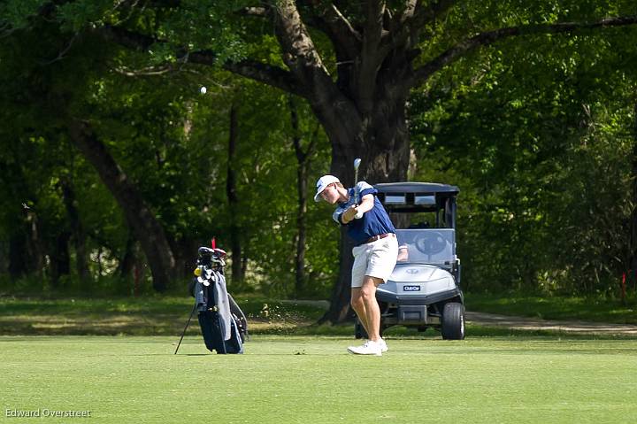
<svg viewBox="0 0 637 424">
<path fill-rule="evenodd" d="M 398 257 L 398 241 L 395 235 L 381 238 L 372 243 L 361 244 L 352 249 L 352 289 L 362 287 L 365 275 L 387 282 L 394 271 Z"/>
</svg>

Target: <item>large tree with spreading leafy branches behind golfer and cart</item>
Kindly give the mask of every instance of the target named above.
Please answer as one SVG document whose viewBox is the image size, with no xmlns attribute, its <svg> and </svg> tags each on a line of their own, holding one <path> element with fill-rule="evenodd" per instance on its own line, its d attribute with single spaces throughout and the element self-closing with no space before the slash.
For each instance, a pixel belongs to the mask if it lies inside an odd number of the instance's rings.
<svg viewBox="0 0 637 424">
<path fill-rule="evenodd" d="M 78 0 L 48 7 L 58 11 L 66 27 L 96 28 L 107 40 L 150 52 L 156 62 L 170 60 L 167 66 L 219 66 L 302 96 L 330 140 L 331 172 L 352 181 L 351 163 L 361 157 L 360 174 L 372 183 L 406 179 L 410 137 L 405 106 L 411 89 L 441 68 L 511 36 L 637 22 L 634 16 L 621 16 L 634 13 L 630 2 L 610 9 L 594 1 L 529 6 L 278 0 L 259 7 L 237 1 L 157 1 L 113 8 L 109 2 Z M 609 11 L 616 17 L 603 18 Z M 276 44 L 262 51 L 272 34 Z M 329 320 L 342 320 L 349 310 L 350 247 L 342 242 Z"/>
</svg>

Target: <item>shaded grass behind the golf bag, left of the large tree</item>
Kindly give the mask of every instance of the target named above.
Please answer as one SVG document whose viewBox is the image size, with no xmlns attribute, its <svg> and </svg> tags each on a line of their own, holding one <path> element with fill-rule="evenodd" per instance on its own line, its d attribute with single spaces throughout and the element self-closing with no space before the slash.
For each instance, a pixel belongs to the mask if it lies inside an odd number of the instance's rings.
<svg viewBox="0 0 637 424">
<path fill-rule="evenodd" d="M 324 309 L 265 297 L 237 297 L 252 333 L 308 326 Z M 0 299 L 0 335 L 179 335 L 191 297 Z M 187 334 L 199 334 L 196 319 Z"/>
</svg>

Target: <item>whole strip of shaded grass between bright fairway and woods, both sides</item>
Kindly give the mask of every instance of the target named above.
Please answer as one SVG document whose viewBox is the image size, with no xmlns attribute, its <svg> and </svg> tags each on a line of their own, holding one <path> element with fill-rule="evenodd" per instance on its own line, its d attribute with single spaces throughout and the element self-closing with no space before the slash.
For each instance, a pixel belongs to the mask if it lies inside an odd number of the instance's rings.
<svg viewBox="0 0 637 424">
<path fill-rule="evenodd" d="M 256 335 L 353 335 L 353 325 L 315 325 L 326 305 L 272 300 L 254 295 L 236 298 L 249 319 L 249 331 Z M 0 298 L 0 335 L 180 335 L 192 311 L 191 297 L 119 297 L 94 298 Z M 591 319 L 590 311 L 578 299 L 509 297 L 492 299 L 487 296 L 467 296 L 467 307 L 476 311 L 526 315 L 534 318 Z M 600 311 L 615 311 L 606 305 Z M 536 312 L 537 311 L 537 312 Z M 631 309 L 620 309 L 623 320 L 610 322 L 637 323 L 637 318 L 625 316 Z M 609 315 L 599 312 L 600 320 Z M 196 317 L 188 335 L 199 335 Z M 435 336 L 428 329 L 419 334 L 414 328 L 395 327 L 388 335 L 407 337 Z M 512 330 L 510 328 L 467 325 L 467 335 L 564 335 L 549 330 Z M 574 335 L 573 335 L 574 336 Z M 586 336 L 582 336 L 586 337 Z M 608 335 L 613 338 L 629 336 Z"/>
</svg>

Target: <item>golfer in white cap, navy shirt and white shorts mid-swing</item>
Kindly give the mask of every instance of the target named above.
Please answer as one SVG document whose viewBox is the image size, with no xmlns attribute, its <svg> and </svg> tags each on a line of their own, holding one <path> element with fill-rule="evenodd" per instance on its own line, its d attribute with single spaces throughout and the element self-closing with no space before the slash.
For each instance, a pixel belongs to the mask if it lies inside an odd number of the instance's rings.
<svg viewBox="0 0 637 424">
<path fill-rule="evenodd" d="M 354 203 L 355 193 L 361 201 Z M 317 181 L 314 200 L 320 198 L 329 204 L 338 204 L 333 218 L 347 226 L 348 235 L 356 246 L 352 249 L 351 305 L 357 313 L 369 340 L 362 346 L 350 346 L 348 351 L 358 355 L 382 355 L 388 351 L 380 338 L 380 307 L 376 301 L 376 288 L 388 281 L 398 255 L 395 228 L 388 213 L 375 196 L 378 191 L 365 181 L 355 188 L 345 189 L 334 175 L 323 175 Z"/>
</svg>

